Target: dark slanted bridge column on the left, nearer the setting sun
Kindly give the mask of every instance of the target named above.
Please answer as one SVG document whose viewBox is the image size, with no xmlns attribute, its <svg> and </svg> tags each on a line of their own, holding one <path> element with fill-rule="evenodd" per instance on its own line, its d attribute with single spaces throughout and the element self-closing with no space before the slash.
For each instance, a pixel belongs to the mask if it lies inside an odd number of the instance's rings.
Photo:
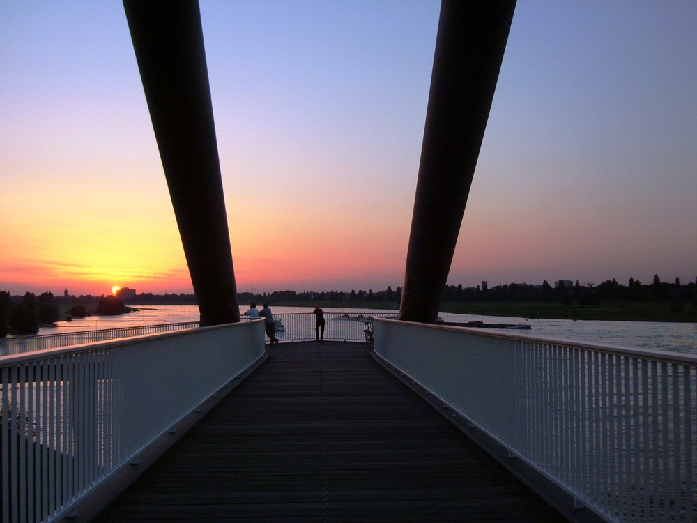
<svg viewBox="0 0 697 523">
<path fill-rule="evenodd" d="M 240 321 L 198 3 L 123 6 L 201 324 Z"/>
</svg>

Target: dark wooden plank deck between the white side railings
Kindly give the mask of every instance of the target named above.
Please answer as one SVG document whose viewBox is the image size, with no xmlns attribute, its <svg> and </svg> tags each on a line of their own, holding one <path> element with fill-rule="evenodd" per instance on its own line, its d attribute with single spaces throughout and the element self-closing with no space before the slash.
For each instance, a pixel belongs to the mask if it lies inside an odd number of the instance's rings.
<svg viewBox="0 0 697 523">
<path fill-rule="evenodd" d="M 365 345 L 311 342 L 270 349 L 259 370 L 97 521 L 210 520 L 562 517 Z"/>
</svg>

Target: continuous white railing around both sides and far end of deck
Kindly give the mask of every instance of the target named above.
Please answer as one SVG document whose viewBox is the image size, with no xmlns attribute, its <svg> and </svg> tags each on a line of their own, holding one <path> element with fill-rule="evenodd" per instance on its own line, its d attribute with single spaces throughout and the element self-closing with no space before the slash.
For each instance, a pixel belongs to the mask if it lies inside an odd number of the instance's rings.
<svg viewBox="0 0 697 523">
<path fill-rule="evenodd" d="M 282 341 L 314 339 L 312 312 L 274 316 Z M 324 316 L 326 340 L 363 341 L 365 321 L 394 314 Z M 168 384 L 186 382 L 188 394 L 192 380 L 221 371 L 229 379 L 244 367 L 226 363 L 238 358 L 233 346 L 257 351 L 243 357 L 247 363 L 263 353 L 263 321 L 246 320 L 1 357 L 3 518 L 51 520 L 47 514 L 127 467 L 144 445 L 132 438 L 161 437 L 181 416 L 158 417 L 173 393 Z M 247 328 L 254 335 L 239 338 Z M 613 521 L 697 516 L 696 356 L 392 319 L 376 321 L 375 334 L 379 358 L 555 482 L 576 506 Z M 197 401 L 180 408 L 190 411 Z M 138 425 L 151 418 L 156 427 Z"/>
</svg>

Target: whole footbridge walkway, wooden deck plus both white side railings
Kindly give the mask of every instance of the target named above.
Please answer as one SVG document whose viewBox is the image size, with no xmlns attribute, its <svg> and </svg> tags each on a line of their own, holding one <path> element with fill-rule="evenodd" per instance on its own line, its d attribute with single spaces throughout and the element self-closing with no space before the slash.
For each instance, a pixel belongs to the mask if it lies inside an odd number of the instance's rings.
<svg viewBox="0 0 697 523">
<path fill-rule="evenodd" d="M 558 517 L 505 469 L 575 522 L 697 521 L 696 356 L 390 319 L 374 351 L 293 332 L 0 356 L 1 522 Z"/>
</svg>

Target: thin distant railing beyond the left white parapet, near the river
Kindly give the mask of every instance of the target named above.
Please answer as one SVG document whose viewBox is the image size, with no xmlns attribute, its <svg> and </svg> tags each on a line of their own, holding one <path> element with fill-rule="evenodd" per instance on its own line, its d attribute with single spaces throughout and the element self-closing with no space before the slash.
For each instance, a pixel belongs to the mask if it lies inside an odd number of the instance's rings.
<svg viewBox="0 0 697 523">
<path fill-rule="evenodd" d="M 39 336 L 13 336 L 0 338 L 0 356 L 22 354 L 24 352 L 56 349 L 68 345 L 103 342 L 118 338 L 132 338 L 144 334 L 169 333 L 186 328 L 197 328 L 198 321 L 186 321 L 176 324 L 139 325 L 133 327 L 101 328 L 94 331 L 77 331 L 72 333 L 42 334 Z"/>
</svg>

